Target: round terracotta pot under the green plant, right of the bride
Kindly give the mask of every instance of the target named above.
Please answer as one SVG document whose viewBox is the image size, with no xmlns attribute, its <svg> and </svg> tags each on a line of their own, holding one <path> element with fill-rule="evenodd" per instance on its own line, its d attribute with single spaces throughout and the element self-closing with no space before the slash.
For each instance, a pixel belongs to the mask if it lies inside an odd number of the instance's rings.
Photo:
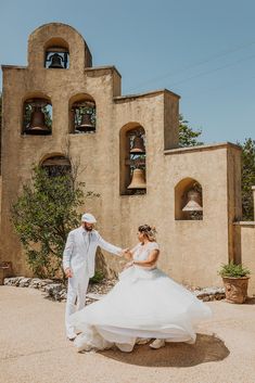
<svg viewBox="0 0 255 383">
<path fill-rule="evenodd" d="M 250 277 L 222 277 L 226 301 L 229 303 L 244 303 L 247 297 L 247 282 Z"/>
</svg>

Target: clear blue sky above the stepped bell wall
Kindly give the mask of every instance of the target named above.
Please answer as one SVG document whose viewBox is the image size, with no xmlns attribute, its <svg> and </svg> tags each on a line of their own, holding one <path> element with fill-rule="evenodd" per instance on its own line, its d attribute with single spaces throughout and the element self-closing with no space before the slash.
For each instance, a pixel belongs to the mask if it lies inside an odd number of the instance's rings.
<svg viewBox="0 0 255 383">
<path fill-rule="evenodd" d="M 51 22 L 117 67 L 123 94 L 178 93 L 204 142 L 255 139 L 255 1 L 0 0 L 0 63 L 26 65 L 29 34 Z"/>
</svg>

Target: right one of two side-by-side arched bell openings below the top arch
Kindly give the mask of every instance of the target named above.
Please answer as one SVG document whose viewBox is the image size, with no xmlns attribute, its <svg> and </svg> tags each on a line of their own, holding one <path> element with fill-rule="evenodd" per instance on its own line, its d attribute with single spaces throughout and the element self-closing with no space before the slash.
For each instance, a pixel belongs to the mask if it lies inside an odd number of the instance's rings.
<svg viewBox="0 0 255 383">
<path fill-rule="evenodd" d="M 97 107 L 93 98 L 81 94 L 69 102 L 69 132 L 76 135 L 95 133 Z"/>
</svg>

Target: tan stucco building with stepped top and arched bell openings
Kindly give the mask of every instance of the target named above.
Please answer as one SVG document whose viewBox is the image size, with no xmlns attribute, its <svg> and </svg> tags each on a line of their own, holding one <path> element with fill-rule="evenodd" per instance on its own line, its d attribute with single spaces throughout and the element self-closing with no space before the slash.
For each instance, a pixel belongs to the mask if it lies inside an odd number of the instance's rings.
<svg viewBox="0 0 255 383">
<path fill-rule="evenodd" d="M 87 189 L 100 193 L 84 209 L 98 217 L 105 239 L 130 246 L 139 225 L 154 225 L 164 271 L 192 285 L 220 283 L 220 264 L 241 257 L 233 225 L 242 216 L 239 146 L 179 148 L 179 95 L 166 89 L 123 95 L 118 71 L 93 67 L 84 38 L 64 24 L 37 28 L 28 65 L 2 71 L 0 256 L 16 275 L 28 270 L 10 206 L 33 164 L 64 166 L 72 158 Z M 190 212 L 192 190 L 197 209 Z M 118 258 L 104 255 L 119 270 Z"/>
</svg>

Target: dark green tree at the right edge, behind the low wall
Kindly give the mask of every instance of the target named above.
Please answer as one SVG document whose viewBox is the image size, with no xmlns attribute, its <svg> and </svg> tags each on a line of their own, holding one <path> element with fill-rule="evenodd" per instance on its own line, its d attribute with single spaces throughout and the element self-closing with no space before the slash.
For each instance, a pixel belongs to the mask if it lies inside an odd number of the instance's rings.
<svg viewBox="0 0 255 383">
<path fill-rule="evenodd" d="M 245 139 L 242 148 L 242 210 L 244 220 L 254 220 L 252 187 L 255 186 L 255 140 Z"/>
</svg>

